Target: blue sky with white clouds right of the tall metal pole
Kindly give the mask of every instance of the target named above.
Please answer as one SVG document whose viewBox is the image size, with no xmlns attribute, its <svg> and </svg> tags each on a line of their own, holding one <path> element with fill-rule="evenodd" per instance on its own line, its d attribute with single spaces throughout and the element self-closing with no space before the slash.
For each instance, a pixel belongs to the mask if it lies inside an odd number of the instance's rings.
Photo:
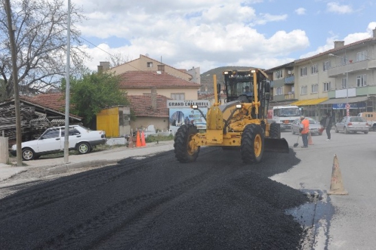
<svg viewBox="0 0 376 250">
<path fill-rule="evenodd" d="M 86 66 L 140 54 L 175 68 L 273 68 L 373 36 L 373 0 L 74 0 Z"/>
</svg>

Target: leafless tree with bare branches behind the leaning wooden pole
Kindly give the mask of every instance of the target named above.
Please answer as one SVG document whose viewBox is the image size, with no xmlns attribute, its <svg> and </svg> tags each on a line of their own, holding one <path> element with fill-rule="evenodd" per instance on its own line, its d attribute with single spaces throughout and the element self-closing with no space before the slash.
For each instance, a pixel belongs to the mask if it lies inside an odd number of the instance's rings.
<svg viewBox="0 0 376 250">
<path fill-rule="evenodd" d="M 12 60 L 5 2 L 0 8 L 0 101 L 13 95 Z M 64 0 L 13 0 L 12 20 L 19 90 L 22 94 L 58 88 L 65 74 L 67 51 L 67 6 Z M 71 73 L 80 73 L 84 59 L 80 31 L 76 23 L 84 20 L 82 9 L 71 5 Z"/>
</svg>

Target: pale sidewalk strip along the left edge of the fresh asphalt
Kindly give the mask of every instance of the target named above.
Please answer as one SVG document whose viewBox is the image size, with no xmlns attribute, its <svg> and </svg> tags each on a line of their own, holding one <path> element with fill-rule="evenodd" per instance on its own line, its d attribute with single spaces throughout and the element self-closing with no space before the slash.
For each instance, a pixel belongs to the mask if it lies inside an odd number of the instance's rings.
<svg viewBox="0 0 376 250">
<path fill-rule="evenodd" d="M 73 168 L 116 164 L 119 160 L 128 157 L 150 155 L 172 149 L 174 149 L 174 140 L 158 143 L 150 142 L 145 147 L 115 147 L 114 149 L 88 153 L 85 155 L 69 155 L 69 163 L 65 163 L 63 157 L 40 158 L 38 160 L 23 161 L 23 164 L 26 164 L 27 166 L 12 166 L 0 163 L 0 182 L 9 179 L 14 175 L 25 172 L 30 168 L 47 168 L 51 174 L 65 173 Z"/>
</svg>

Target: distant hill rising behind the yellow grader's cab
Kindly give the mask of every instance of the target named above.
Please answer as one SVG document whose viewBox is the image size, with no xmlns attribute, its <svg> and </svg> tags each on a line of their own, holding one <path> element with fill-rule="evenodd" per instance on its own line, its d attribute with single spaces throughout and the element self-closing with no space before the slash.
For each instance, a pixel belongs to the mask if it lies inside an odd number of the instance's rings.
<svg viewBox="0 0 376 250">
<path fill-rule="evenodd" d="M 223 66 L 218 68 L 213 68 L 210 71 L 202 73 L 201 77 L 201 93 L 211 94 L 213 93 L 213 75 L 217 75 L 217 83 L 223 86 L 224 78 L 222 72 L 228 69 L 236 69 L 238 71 L 244 71 L 252 68 L 251 66 Z"/>
</svg>

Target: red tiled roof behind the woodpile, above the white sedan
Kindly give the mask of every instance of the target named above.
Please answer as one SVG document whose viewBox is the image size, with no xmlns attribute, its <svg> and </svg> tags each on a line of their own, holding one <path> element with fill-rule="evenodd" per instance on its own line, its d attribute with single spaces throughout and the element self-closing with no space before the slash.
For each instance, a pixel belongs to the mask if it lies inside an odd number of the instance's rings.
<svg viewBox="0 0 376 250">
<path fill-rule="evenodd" d="M 62 92 L 39 94 L 34 97 L 21 96 L 20 99 L 58 112 L 65 110 L 65 99 Z"/>
</svg>

